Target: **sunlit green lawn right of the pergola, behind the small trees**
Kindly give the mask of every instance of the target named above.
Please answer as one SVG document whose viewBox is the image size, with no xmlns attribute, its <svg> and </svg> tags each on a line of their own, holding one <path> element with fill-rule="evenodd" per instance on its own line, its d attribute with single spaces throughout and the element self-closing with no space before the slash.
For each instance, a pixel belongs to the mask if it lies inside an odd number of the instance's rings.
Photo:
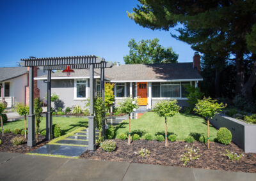
<svg viewBox="0 0 256 181">
<path fill-rule="evenodd" d="M 167 119 L 167 127 L 168 135 L 171 133 L 176 134 L 177 140 L 184 140 L 189 134 L 193 135 L 195 138 L 201 133 L 207 135 L 207 122 L 196 115 L 179 113 Z M 142 136 L 142 138 L 146 133 L 153 135 L 161 133 L 164 135 L 164 131 L 164 118 L 158 117 L 156 113 L 147 112 L 144 113 L 140 119 L 131 120 L 131 133 L 137 133 Z M 116 138 L 118 138 L 118 134 L 120 133 L 128 133 L 128 120 L 124 120 L 124 122 L 115 127 Z M 216 133 L 216 129 L 210 126 L 210 141 L 214 141 Z"/>
</svg>

